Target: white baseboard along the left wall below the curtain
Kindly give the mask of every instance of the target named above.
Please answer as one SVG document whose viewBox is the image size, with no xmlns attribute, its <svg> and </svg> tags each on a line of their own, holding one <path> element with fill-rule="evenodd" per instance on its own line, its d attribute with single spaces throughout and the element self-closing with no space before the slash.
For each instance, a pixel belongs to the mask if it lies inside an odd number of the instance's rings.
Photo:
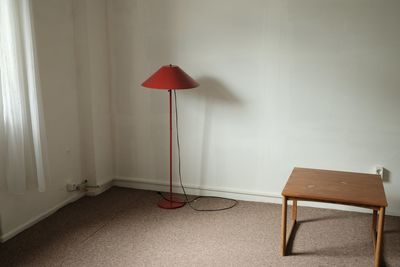
<svg viewBox="0 0 400 267">
<path fill-rule="evenodd" d="M 68 205 L 69 203 L 77 201 L 78 199 L 80 199 L 83 196 L 85 196 L 85 193 L 83 193 L 83 192 L 76 193 L 74 196 L 67 198 L 63 202 L 57 204 L 56 206 L 52 207 L 51 209 L 48 209 L 47 211 L 39 214 L 38 216 L 30 219 L 26 223 L 21 224 L 20 226 L 14 228 L 13 230 L 11 230 L 7 233 L 4 233 L 2 236 L 0 236 L 0 242 L 3 243 L 5 241 L 13 238 L 14 236 L 21 233 L 22 231 L 28 229 L 29 227 L 33 226 L 34 224 L 40 222 L 41 220 L 49 217 L 51 214 L 53 214 L 57 210 L 61 209 L 62 207 Z"/>
</svg>

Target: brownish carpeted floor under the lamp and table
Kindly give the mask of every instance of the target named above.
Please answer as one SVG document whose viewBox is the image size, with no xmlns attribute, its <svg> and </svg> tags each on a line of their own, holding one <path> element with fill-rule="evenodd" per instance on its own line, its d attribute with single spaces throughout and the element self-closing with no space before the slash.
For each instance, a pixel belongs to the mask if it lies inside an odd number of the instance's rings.
<svg viewBox="0 0 400 267">
<path fill-rule="evenodd" d="M 0 265 L 373 266 L 368 214 L 299 207 L 291 253 L 280 257 L 280 205 L 195 212 L 159 209 L 158 199 L 123 188 L 85 197 L 1 244 Z M 386 216 L 384 262 L 400 266 L 399 217 Z"/>
</svg>

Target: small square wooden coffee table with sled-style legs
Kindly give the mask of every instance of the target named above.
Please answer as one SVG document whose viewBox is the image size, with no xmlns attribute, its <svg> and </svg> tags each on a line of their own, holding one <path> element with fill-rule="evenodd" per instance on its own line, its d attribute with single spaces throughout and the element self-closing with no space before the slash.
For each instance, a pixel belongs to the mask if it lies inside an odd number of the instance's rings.
<svg viewBox="0 0 400 267">
<path fill-rule="evenodd" d="M 387 201 L 379 175 L 294 168 L 282 191 L 282 256 L 286 255 L 287 202 L 293 201 L 292 230 L 297 223 L 297 201 L 317 201 L 358 206 L 373 210 L 372 238 L 375 249 L 375 266 L 381 262 L 383 225 Z M 379 220 L 377 217 L 379 212 Z"/>
</svg>

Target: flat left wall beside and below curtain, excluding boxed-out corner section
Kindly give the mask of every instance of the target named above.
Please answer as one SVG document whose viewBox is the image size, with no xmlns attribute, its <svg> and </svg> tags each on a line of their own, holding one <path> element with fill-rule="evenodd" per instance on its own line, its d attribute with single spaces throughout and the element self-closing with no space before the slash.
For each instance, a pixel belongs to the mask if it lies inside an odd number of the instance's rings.
<svg viewBox="0 0 400 267">
<path fill-rule="evenodd" d="M 71 7 L 70 1 L 33 2 L 51 183 L 45 193 L 36 188 L 21 195 L 0 193 L 3 238 L 78 196 L 66 192 L 66 181 L 77 181 L 81 176 Z"/>
</svg>

